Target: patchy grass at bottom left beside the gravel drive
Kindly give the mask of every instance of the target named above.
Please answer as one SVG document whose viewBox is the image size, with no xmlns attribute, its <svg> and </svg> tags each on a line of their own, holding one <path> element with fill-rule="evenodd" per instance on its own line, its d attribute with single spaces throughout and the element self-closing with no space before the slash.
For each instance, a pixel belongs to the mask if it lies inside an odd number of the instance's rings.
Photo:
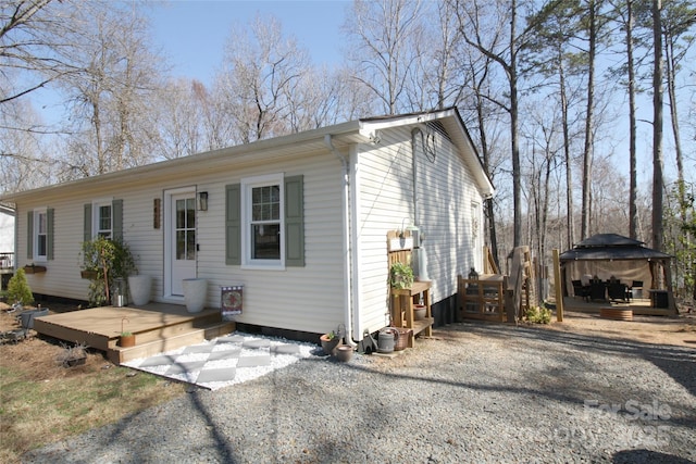
<svg viewBox="0 0 696 464">
<path fill-rule="evenodd" d="M 20 462 L 32 449 L 185 393 L 183 384 L 145 373 L 133 375 L 132 369 L 105 363 L 100 354 L 88 358 L 85 366 L 60 367 L 64 377 L 46 375 L 44 379 L 37 378 L 32 363 L 26 368 L 0 363 L 0 462 Z M 102 368 L 105 365 L 111 367 Z"/>
</svg>

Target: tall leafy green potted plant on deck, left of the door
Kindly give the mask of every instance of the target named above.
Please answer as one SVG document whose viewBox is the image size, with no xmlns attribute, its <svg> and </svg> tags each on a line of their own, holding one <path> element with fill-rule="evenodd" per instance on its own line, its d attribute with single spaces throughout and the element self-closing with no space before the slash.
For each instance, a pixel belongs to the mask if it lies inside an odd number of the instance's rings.
<svg viewBox="0 0 696 464">
<path fill-rule="evenodd" d="M 123 240 L 111 240 L 97 237 L 83 242 L 82 275 L 89 278 L 88 300 L 91 306 L 102 306 L 112 301 L 114 279 L 125 279 L 137 273 L 135 260 L 128 244 Z M 127 292 L 125 286 L 116 289 L 119 293 Z M 125 294 L 119 294 L 125 301 Z"/>
</svg>

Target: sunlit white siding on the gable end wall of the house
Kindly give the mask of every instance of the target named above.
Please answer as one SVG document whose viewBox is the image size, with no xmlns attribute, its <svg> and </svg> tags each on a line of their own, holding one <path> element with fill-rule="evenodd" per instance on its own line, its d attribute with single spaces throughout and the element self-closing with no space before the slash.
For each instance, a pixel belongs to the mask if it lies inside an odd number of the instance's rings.
<svg viewBox="0 0 696 464">
<path fill-rule="evenodd" d="M 465 274 L 481 253 L 471 246 L 471 204 L 482 203 L 452 143 L 442 135 L 435 143 L 431 162 L 419 139 L 415 179 L 417 224 L 425 237 L 433 303 L 456 293 L 457 274 Z M 360 330 L 373 331 L 389 323 L 386 234 L 414 221 L 410 128 L 384 130 L 380 145 L 360 149 Z"/>
</svg>

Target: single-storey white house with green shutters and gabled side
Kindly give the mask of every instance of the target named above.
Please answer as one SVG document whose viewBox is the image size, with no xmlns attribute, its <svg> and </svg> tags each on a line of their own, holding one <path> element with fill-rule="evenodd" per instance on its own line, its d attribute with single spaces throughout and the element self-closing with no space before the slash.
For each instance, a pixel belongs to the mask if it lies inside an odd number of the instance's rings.
<svg viewBox="0 0 696 464">
<path fill-rule="evenodd" d="M 183 303 L 182 279 L 244 285 L 243 324 L 362 339 L 388 325 L 388 230 L 425 236 L 434 303 L 483 263 L 494 188 L 456 109 L 363 118 L 7 195 L 17 265 L 36 293 L 85 300 L 80 244 L 122 237 L 151 299 Z M 200 208 L 206 200 L 207 208 Z"/>
</svg>

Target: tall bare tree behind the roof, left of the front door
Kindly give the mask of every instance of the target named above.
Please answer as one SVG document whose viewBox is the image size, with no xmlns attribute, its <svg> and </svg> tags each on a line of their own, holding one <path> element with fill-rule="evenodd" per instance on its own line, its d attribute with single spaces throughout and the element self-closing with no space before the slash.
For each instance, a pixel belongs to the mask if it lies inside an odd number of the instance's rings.
<svg viewBox="0 0 696 464">
<path fill-rule="evenodd" d="M 147 163 L 157 139 L 148 115 L 162 74 L 147 23 L 135 5 L 92 2 L 76 14 L 62 53 L 77 72 L 60 80 L 73 123 L 66 168 L 83 177 Z"/>
</svg>

